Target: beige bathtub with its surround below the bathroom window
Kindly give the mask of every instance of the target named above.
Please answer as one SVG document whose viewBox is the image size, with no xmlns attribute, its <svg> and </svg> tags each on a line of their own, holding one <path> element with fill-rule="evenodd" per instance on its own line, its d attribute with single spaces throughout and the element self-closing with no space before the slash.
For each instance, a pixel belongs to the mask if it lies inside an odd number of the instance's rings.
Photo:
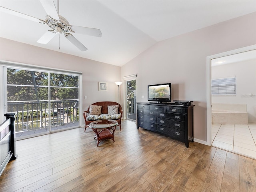
<svg viewBox="0 0 256 192">
<path fill-rule="evenodd" d="M 246 104 L 212 104 L 212 124 L 248 124 Z"/>
</svg>

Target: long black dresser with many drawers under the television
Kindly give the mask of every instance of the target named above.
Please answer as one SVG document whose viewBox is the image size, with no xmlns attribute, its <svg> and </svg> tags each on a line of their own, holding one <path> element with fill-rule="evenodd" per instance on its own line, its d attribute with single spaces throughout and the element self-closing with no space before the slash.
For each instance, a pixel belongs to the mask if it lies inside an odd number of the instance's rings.
<svg viewBox="0 0 256 192">
<path fill-rule="evenodd" d="M 194 105 L 160 104 L 149 102 L 137 103 L 139 127 L 158 132 L 170 138 L 188 143 L 193 137 Z"/>
</svg>

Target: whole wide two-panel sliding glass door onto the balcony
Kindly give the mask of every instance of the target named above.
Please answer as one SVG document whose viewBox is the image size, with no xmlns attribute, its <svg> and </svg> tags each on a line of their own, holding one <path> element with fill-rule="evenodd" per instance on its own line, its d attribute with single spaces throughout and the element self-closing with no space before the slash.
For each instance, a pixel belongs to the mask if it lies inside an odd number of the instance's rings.
<svg viewBox="0 0 256 192">
<path fill-rule="evenodd" d="M 6 68 L 7 112 L 16 113 L 16 138 L 79 126 L 80 75 Z"/>
</svg>

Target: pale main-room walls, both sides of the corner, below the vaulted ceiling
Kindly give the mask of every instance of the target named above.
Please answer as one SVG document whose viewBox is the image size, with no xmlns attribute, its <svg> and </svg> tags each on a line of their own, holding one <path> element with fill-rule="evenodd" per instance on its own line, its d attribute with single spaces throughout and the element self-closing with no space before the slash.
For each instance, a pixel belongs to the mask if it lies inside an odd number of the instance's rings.
<svg viewBox="0 0 256 192">
<path fill-rule="evenodd" d="M 138 75 L 138 102 L 147 101 L 148 84 L 172 82 L 172 100 L 194 100 L 194 138 L 204 142 L 206 57 L 256 44 L 255 23 L 256 12 L 158 42 L 121 68 L 3 38 L 0 60 L 82 71 L 83 97 L 88 97 L 83 109 L 100 100 L 117 101 L 114 82 L 123 76 Z M 108 82 L 107 92 L 98 91 L 99 81 Z"/>
</svg>

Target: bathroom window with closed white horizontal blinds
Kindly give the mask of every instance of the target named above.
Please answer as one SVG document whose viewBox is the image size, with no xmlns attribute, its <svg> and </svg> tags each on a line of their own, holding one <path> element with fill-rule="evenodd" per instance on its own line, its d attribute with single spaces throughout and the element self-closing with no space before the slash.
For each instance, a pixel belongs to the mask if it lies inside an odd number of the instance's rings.
<svg viewBox="0 0 256 192">
<path fill-rule="evenodd" d="M 236 77 L 212 79 L 212 95 L 236 95 Z"/>
</svg>

